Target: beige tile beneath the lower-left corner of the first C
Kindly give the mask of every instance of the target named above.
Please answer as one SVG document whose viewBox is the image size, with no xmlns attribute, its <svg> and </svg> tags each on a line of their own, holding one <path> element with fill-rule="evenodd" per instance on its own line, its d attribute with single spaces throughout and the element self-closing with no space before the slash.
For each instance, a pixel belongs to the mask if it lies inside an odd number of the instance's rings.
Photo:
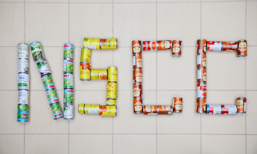
<svg viewBox="0 0 257 154">
<path fill-rule="evenodd" d="M 143 92 L 144 105 L 156 105 L 155 91 Z M 119 91 L 117 117 L 113 118 L 114 133 L 149 134 L 156 133 L 156 115 L 133 114 L 132 91 Z"/>
</svg>

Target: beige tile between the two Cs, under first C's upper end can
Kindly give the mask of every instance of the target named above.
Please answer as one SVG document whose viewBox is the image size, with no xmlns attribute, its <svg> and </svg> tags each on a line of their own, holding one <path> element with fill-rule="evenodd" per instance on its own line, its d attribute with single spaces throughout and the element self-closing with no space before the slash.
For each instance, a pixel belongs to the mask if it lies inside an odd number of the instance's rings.
<svg viewBox="0 0 257 154">
<path fill-rule="evenodd" d="M 181 57 L 173 57 L 171 51 L 158 51 L 158 90 L 196 90 L 194 51 L 194 47 L 184 47 Z"/>
</svg>

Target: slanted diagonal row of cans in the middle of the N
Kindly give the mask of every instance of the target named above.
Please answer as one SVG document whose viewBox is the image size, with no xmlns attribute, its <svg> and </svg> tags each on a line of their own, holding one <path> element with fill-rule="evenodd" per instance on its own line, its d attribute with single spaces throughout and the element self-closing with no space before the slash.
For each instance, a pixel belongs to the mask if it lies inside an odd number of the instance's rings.
<svg viewBox="0 0 257 154">
<path fill-rule="evenodd" d="M 43 85 L 45 87 L 48 102 L 52 109 L 53 117 L 55 120 L 63 118 L 64 115 L 59 104 L 59 100 L 55 90 L 55 85 L 51 77 L 50 68 L 43 54 L 41 43 L 34 42 L 34 43 L 31 43 L 29 46 L 30 46 L 33 59 L 37 65 L 38 72 L 41 76 Z"/>
</svg>

